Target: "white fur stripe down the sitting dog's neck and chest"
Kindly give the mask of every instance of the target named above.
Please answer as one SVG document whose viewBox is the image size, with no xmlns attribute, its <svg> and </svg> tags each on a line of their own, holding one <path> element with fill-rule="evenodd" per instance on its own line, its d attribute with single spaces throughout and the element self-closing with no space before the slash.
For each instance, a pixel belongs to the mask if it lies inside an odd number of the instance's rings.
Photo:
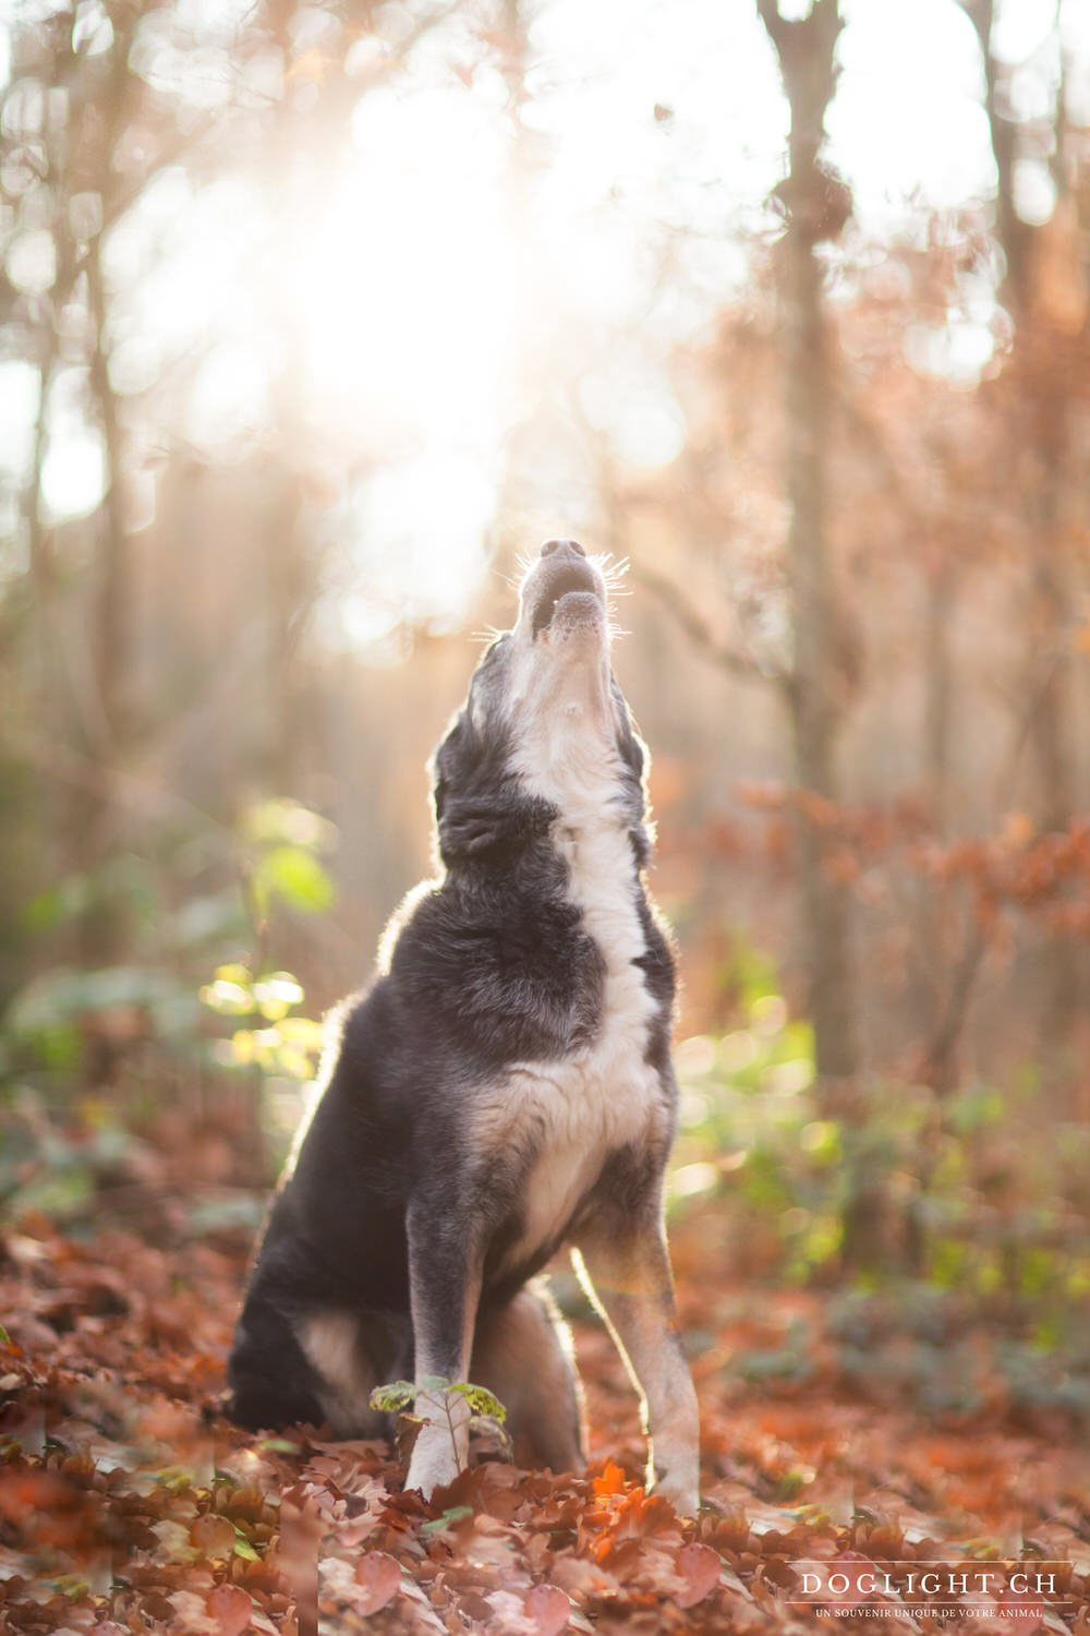
<svg viewBox="0 0 1090 1636">
<path fill-rule="evenodd" d="M 659 1075 L 646 1060 L 655 1003 L 634 964 L 647 939 L 628 834 L 613 820 L 562 820 L 554 843 L 569 867 L 569 898 L 601 952 L 601 1013 L 588 1045 L 559 1060 L 516 1063 L 490 1099 L 508 1152 L 529 1155 L 508 1265 L 561 1237 L 608 1155 L 663 1117 Z"/>
</svg>

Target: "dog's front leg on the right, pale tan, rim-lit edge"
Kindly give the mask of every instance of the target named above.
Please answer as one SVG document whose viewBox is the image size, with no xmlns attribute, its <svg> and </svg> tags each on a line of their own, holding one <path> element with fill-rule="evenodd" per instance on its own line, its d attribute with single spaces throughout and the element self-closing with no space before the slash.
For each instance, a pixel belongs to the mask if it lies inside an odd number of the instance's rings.
<svg viewBox="0 0 1090 1636">
<path fill-rule="evenodd" d="M 699 1422 L 681 1350 L 670 1256 L 655 1204 L 642 1219 L 606 1212 L 579 1234 L 575 1270 L 606 1320 L 642 1399 L 647 1481 L 685 1517 L 699 1505 Z"/>
</svg>

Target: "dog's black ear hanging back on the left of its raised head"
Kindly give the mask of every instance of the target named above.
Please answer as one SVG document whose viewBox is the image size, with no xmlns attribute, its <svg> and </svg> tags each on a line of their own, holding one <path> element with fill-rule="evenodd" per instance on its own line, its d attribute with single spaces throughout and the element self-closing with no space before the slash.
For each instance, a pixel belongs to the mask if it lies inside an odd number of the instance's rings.
<svg viewBox="0 0 1090 1636">
<path fill-rule="evenodd" d="M 503 744 L 485 744 L 466 710 L 435 753 L 440 857 L 456 862 L 520 851 L 549 833 L 556 808 L 526 795 L 507 774 Z"/>
</svg>

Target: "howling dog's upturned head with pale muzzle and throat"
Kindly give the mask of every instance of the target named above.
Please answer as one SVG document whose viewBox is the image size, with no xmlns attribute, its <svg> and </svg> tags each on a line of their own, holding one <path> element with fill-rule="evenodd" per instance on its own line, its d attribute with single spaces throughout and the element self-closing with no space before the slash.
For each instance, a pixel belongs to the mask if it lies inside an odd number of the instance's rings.
<svg viewBox="0 0 1090 1636">
<path fill-rule="evenodd" d="M 610 581 L 574 540 L 547 540 L 435 754 L 440 856 L 449 867 L 547 834 L 564 811 L 614 815 L 637 864 L 647 756 L 610 667 Z"/>
</svg>

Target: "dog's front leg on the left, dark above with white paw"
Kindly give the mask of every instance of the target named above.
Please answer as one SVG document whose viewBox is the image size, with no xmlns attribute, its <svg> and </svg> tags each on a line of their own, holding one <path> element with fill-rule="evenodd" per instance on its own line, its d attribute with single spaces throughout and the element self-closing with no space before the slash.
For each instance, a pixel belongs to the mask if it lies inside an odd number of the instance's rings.
<svg viewBox="0 0 1090 1636">
<path fill-rule="evenodd" d="M 480 1296 L 480 1265 L 458 1212 L 413 1204 L 409 1209 L 409 1294 L 415 1345 L 415 1414 L 420 1432 L 409 1461 L 407 1489 L 425 1500 L 464 1471 L 469 1454 L 469 1404 L 461 1392 L 428 1384 L 464 1381 Z"/>
</svg>

